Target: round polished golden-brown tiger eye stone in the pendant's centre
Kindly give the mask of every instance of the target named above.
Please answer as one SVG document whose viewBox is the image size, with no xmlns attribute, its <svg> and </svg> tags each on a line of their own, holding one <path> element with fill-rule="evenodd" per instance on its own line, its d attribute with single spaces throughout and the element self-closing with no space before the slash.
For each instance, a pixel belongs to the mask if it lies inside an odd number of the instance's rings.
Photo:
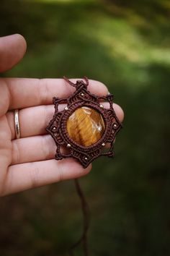
<svg viewBox="0 0 170 256">
<path fill-rule="evenodd" d="M 82 106 L 68 117 L 67 132 L 77 144 L 89 147 L 101 139 L 104 133 L 102 115 L 94 108 Z"/>
</svg>

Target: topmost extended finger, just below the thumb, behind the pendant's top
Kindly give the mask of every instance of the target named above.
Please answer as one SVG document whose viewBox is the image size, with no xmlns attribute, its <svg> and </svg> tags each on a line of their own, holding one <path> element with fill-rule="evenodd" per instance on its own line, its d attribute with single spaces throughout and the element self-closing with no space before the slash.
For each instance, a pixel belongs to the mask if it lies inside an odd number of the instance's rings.
<svg viewBox="0 0 170 256">
<path fill-rule="evenodd" d="M 76 80 L 78 79 L 71 81 Z M 54 96 L 67 98 L 75 90 L 63 79 L 3 78 L 0 80 L 0 93 L 1 84 L 7 88 L 6 93 L 9 93 L 9 100 L 6 102 L 9 109 L 49 105 Z M 89 80 L 88 89 L 96 95 L 108 93 L 106 85 L 95 80 Z"/>
</svg>

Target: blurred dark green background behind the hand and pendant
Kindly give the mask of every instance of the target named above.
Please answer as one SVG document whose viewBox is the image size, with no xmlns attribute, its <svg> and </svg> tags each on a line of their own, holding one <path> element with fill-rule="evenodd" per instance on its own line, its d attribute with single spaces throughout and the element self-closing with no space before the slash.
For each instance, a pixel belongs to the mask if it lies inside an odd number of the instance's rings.
<svg viewBox="0 0 170 256">
<path fill-rule="evenodd" d="M 1 0 L 0 35 L 27 40 L 24 60 L 2 76 L 86 75 L 125 111 L 115 159 L 99 158 L 81 179 L 90 256 L 170 255 L 169 19 L 168 0 Z M 72 181 L 0 200 L 0 256 L 67 255 L 81 230 Z"/>
</svg>

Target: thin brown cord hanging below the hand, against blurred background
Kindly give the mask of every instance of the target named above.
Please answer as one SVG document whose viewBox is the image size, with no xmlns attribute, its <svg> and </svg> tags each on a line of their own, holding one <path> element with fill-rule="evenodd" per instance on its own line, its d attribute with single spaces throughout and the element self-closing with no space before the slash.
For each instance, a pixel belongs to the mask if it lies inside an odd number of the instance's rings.
<svg viewBox="0 0 170 256">
<path fill-rule="evenodd" d="M 84 197 L 84 192 L 82 191 L 81 186 L 79 184 L 79 180 L 74 179 L 74 182 L 75 182 L 76 192 L 79 195 L 79 198 L 81 200 L 81 208 L 82 208 L 83 217 L 84 217 L 84 229 L 83 229 L 83 234 L 81 238 L 75 244 L 72 245 L 69 254 L 70 256 L 73 256 L 73 250 L 76 249 L 76 247 L 78 247 L 79 244 L 82 244 L 84 248 L 84 256 L 88 256 L 89 252 L 88 252 L 88 244 L 87 244 L 87 233 L 89 230 L 89 205 L 86 202 L 86 199 Z"/>
</svg>

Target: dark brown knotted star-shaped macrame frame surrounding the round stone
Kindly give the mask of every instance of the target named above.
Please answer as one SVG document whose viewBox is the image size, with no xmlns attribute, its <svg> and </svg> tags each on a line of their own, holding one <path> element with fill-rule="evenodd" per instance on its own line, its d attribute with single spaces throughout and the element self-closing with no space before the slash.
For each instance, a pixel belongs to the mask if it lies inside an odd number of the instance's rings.
<svg viewBox="0 0 170 256">
<path fill-rule="evenodd" d="M 53 119 L 48 124 L 46 130 L 55 140 L 57 146 L 55 159 L 61 160 L 63 158 L 76 158 L 81 165 L 86 168 L 89 166 L 89 163 L 94 161 L 95 158 L 100 155 L 107 155 L 113 157 L 114 153 L 114 140 L 117 132 L 120 131 L 122 124 L 117 118 L 114 108 L 112 106 L 113 95 L 109 94 L 106 96 L 97 96 L 87 90 L 89 85 L 89 80 L 84 77 L 84 80 L 77 80 L 76 84 L 73 84 L 70 80 L 64 77 L 66 82 L 76 88 L 76 91 L 69 98 L 53 98 L 53 104 L 55 105 L 55 113 Z M 102 105 L 103 101 L 109 103 L 109 108 L 104 108 Z M 66 107 L 62 110 L 58 110 L 58 106 L 61 103 L 67 104 Z M 104 134 L 101 139 L 98 140 L 94 145 L 88 147 L 81 146 L 69 137 L 66 124 L 69 116 L 76 111 L 77 108 L 86 106 L 93 108 L 95 111 L 99 112 L 102 115 L 104 120 Z M 103 149 L 105 145 L 109 145 L 107 152 L 104 152 Z M 61 147 L 68 148 L 68 153 L 64 153 L 61 150 Z"/>
</svg>

